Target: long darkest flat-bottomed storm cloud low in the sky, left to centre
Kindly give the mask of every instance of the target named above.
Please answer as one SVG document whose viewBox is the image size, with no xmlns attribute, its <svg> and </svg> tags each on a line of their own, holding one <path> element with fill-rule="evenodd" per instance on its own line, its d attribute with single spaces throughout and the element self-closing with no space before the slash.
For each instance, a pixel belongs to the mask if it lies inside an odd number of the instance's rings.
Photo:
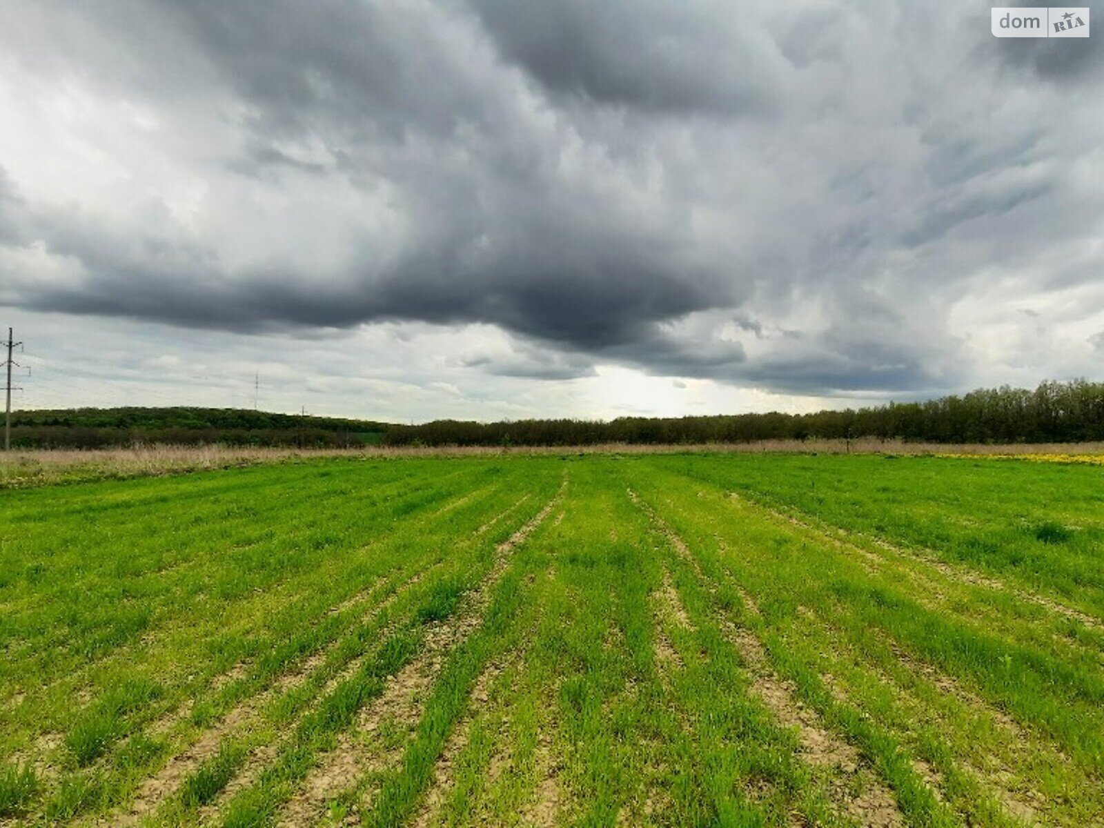
<svg viewBox="0 0 1104 828">
<path fill-rule="evenodd" d="M 31 221 L 49 251 L 79 262 L 87 278 L 76 288 L 28 285 L 28 307 L 243 332 L 386 319 L 492 322 L 574 350 L 631 358 L 639 346 L 641 361 L 667 353 L 657 350 L 658 321 L 733 296 L 710 274 L 680 267 L 654 245 L 620 244 L 583 227 L 551 240 L 523 237 L 516 251 L 476 268 L 463 261 L 463 250 L 423 248 L 389 268 L 319 282 L 278 268 L 231 274 L 192 240 L 120 236 L 77 214 Z M 713 360 L 686 358 L 690 364 Z"/>
</svg>

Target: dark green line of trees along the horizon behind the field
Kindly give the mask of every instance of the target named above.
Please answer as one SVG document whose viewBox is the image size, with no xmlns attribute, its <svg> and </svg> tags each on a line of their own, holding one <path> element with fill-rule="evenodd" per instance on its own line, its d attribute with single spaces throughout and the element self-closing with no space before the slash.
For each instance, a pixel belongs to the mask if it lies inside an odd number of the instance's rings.
<svg viewBox="0 0 1104 828">
<path fill-rule="evenodd" d="M 13 414 L 12 444 L 99 447 L 135 443 L 270 446 L 577 446 L 603 443 L 701 444 L 768 439 L 901 438 L 927 443 L 1079 443 L 1104 440 L 1104 383 L 1002 386 L 920 403 L 814 414 L 705 417 L 438 420 L 396 425 L 232 408 L 75 408 Z"/>
</svg>

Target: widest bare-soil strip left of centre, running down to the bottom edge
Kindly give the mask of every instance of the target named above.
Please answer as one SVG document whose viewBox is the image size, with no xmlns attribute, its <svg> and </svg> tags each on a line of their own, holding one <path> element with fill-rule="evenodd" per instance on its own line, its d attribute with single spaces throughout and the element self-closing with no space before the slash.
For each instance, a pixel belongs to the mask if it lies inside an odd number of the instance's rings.
<svg viewBox="0 0 1104 828">
<path fill-rule="evenodd" d="M 456 613 L 432 625 L 418 655 L 388 681 L 381 696 L 360 711 L 354 725 L 340 735 L 337 749 L 322 758 L 307 776 L 299 793 L 288 800 L 278 820 L 280 828 L 318 822 L 325 817 L 329 800 L 354 789 L 365 775 L 394 767 L 401 761 L 405 744 L 417 728 L 425 701 L 449 652 L 482 623 L 495 586 L 506 574 L 514 549 L 544 522 L 562 498 L 565 487 L 566 480 L 537 516 L 496 548 L 495 562 L 479 585 L 464 597 Z M 390 745 L 381 744 L 379 737 L 384 725 L 401 734 L 401 737 L 390 740 Z M 375 792 L 364 793 L 367 797 L 360 804 L 361 811 L 371 807 L 371 797 Z"/>
</svg>

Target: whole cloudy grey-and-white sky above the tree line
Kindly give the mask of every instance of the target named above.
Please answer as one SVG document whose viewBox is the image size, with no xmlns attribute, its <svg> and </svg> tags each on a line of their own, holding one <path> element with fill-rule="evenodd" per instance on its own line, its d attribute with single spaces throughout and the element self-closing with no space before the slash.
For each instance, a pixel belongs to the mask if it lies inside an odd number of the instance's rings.
<svg viewBox="0 0 1104 828">
<path fill-rule="evenodd" d="M 4 0 L 15 405 L 611 418 L 1101 379 L 1104 30 L 997 39 L 989 9 Z"/>
</svg>

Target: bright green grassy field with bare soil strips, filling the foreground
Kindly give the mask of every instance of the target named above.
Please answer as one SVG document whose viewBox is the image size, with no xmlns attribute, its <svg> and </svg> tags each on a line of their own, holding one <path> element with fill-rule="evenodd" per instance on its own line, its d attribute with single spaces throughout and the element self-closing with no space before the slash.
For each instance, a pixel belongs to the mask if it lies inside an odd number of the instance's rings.
<svg viewBox="0 0 1104 828">
<path fill-rule="evenodd" d="M 1104 825 L 1104 468 L 0 491 L 0 825 Z"/>
</svg>

